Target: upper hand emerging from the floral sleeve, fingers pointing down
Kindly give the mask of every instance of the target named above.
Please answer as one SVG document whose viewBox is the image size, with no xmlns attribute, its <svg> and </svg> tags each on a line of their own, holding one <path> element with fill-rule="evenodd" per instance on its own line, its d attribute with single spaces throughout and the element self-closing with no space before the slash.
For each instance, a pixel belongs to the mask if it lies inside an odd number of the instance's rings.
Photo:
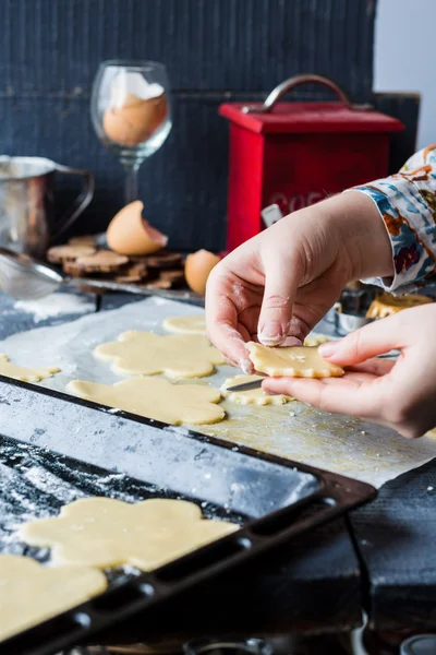
<svg viewBox="0 0 436 655">
<path fill-rule="evenodd" d="M 252 372 L 244 342 L 300 344 L 348 282 L 393 274 L 378 210 L 350 192 L 294 212 L 240 246 L 210 273 L 209 340 Z"/>
</svg>

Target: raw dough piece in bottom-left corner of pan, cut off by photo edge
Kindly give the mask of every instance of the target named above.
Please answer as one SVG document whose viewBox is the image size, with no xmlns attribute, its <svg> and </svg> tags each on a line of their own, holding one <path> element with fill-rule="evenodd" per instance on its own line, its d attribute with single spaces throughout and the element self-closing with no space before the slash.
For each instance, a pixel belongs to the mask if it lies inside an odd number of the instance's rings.
<svg viewBox="0 0 436 655">
<path fill-rule="evenodd" d="M 108 586 L 90 568 L 46 568 L 28 557 L 0 556 L 0 641 L 89 600 Z"/>
</svg>

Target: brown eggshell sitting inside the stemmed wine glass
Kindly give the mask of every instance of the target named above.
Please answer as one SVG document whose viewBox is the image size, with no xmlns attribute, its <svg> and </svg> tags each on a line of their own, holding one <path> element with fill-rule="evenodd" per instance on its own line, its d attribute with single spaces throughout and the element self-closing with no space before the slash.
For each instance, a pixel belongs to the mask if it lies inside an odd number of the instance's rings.
<svg viewBox="0 0 436 655">
<path fill-rule="evenodd" d="M 147 141 L 167 118 L 168 106 L 165 94 L 123 107 L 108 108 L 102 117 L 102 129 L 107 136 L 119 145 L 133 146 Z"/>
</svg>

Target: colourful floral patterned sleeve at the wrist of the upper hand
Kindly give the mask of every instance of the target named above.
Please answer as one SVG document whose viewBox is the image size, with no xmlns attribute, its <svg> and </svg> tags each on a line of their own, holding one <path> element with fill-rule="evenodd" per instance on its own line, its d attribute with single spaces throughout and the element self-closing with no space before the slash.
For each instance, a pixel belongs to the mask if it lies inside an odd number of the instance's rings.
<svg viewBox="0 0 436 655">
<path fill-rule="evenodd" d="M 393 278 L 365 282 L 395 294 L 436 282 L 436 144 L 415 153 L 397 175 L 354 190 L 374 201 L 392 245 Z"/>
</svg>

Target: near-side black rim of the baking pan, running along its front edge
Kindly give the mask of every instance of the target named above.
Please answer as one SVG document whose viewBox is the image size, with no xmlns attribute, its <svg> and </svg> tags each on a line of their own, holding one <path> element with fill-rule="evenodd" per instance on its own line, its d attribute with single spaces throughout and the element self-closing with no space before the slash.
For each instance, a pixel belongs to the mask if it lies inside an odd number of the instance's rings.
<svg viewBox="0 0 436 655">
<path fill-rule="evenodd" d="M 340 486 L 339 486 L 340 487 Z M 181 593 L 217 579 L 222 573 L 245 562 L 259 558 L 272 548 L 289 544 L 296 536 L 311 528 L 323 525 L 339 517 L 350 509 L 354 509 L 375 496 L 368 485 L 367 495 L 360 498 L 350 489 L 350 498 L 335 500 L 338 488 L 327 485 L 327 496 L 315 492 L 299 502 L 266 516 L 249 522 L 238 532 L 228 535 L 210 545 L 204 546 L 173 562 L 150 573 L 144 573 L 111 588 L 94 599 L 71 608 L 29 628 L 20 634 L 0 643 L 2 655 L 52 655 L 64 648 L 88 643 L 110 630 L 122 629 L 122 624 L 132 618 L 142 616 L 146 620 L 146 611 L 150 607 L 174 599 Z M 311 511 L 314 502 L 324 505 L 324 511 L 304 516 L 304 510 Z M 298 513 L 302 511 L 299 519 Z M 272 519 L 288 520 L 288 527 L 278 528 L 268 534 L 268 523 Z M 292 515 L 296 516 L 295 519 Z M 289 523 L 291 521 L 291 523 Z M 262 529 L 267 527 L 267 531 Z M 274 526 L 272 526 L 274 527 Z M 259 529 L 261 528 L 261 529 Z"/>
</svg>

